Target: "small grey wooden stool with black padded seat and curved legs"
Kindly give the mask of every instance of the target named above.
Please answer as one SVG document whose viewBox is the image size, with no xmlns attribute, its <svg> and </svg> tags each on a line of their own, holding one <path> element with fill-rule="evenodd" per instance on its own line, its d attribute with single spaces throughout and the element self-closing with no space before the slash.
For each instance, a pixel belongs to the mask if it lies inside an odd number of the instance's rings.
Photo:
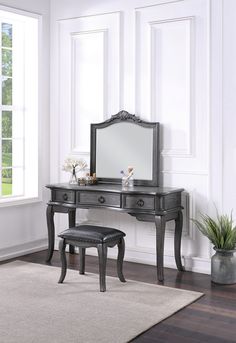
<svg viewBox="0 0 236 343">
<path fill-rule="evenodd" d="M 125 278 L 123 276 L 123 259 L 125 253 L 124 232 L 110 227 L 79 225 L 61 232 L 58 236 L 61 238 L 59 243 L 59 251 L 62 262 L 61 276 L 58 281 L 59 283 L 62 283 L 66 276 L 66 244 L 79 247 L 80 274 L 84 274 L 85 271 L 85 249 L 90 247 L 97 248 L 99 257 L 99 282 L 101 292 L 106 291 L 107 248 L 112 248 L 117 245 L 117 274 L 120 281 L 125 282 Z"/>
</svg>

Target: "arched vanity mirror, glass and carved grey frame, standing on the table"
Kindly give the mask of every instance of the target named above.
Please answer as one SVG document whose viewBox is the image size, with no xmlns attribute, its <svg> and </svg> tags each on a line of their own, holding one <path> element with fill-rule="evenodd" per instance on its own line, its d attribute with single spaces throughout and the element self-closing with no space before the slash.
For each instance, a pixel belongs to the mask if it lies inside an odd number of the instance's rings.
<svg viewBox="0 0 236 343">
<path fill-rule="evenodd" d="M 121 170 L 134 168 L 134 184 L 159 185 L 159 123 L 120 111 L 91 124 L 91 173 L 99 183 L 121 183 Z"/>
</svg>

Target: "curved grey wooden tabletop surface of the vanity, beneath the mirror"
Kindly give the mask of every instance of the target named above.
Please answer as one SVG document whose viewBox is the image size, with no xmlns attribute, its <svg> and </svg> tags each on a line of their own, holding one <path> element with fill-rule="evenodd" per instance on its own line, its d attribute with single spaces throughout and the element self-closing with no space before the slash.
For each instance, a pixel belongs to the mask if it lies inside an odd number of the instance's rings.
<svg viewBox="0 0 236 343">
<path fill-rule="evenodd" d="M 183 192 L 183 188 L 172 187 L 150 187 L 150 186 L 134 186 L 132 188 L 124 189 L 120 184 L 114 185 L 109 183 L 101 183 L 96 185 L 70 185 L 69 183 L 56 183 L 46 185 L 50 189 L 65 189 L 73 191 L 102 191 L 102 192 L 114 192 L 114 193 L 138 193 L 138 194 L 151 194 L 151 195 L 167 195 L 173 193 Z"/>
</svg>

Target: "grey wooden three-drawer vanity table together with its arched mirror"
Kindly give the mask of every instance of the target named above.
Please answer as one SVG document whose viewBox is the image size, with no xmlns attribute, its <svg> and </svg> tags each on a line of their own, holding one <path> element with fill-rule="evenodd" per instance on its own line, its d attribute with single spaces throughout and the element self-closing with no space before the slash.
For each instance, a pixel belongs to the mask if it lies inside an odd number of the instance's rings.
<svg viewBox="0 0 236 343">
<path fill-rule="evenodd" d="M 159 187 L 159 125 L 142 121 L 121 111 L 103 123 L 91 124 L 91 173 L 96 185 L 47 185 L 51 200 L 47 206 L 48 255 L 53 256 L 54 213 L 67 213 L 69 227 L 75 226 L 76 208 L 102 208 L 125 212 L 156 226 L 157 278 L 163 281 L 166 222 L 175 221 L 174 251 L 178 270 L 181 263 L 183 189 Z M 134 167 L 133 188 L 122 188 L 120 171 Z M 127 233 L 128 234 L 128 233 Z M 70 247 L 73 253 L 73 247 Z"/>
</svg>

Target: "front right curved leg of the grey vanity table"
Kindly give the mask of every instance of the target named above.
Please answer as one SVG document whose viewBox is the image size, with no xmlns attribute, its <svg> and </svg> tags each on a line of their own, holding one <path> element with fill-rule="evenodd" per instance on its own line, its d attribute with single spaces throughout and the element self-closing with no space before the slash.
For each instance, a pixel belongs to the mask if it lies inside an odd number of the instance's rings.
<svg viewBox="0 0 236 343">
<path fill-rule="evenodd" d="M 164 257 L 164 239 L 165 239 L 165 225 L 164 216 L 155 216 L 156 224 L 156 261 L 157 261 L 157 279 L 164 280 L 163 272 L 163 257 Z"/>
</svg>

